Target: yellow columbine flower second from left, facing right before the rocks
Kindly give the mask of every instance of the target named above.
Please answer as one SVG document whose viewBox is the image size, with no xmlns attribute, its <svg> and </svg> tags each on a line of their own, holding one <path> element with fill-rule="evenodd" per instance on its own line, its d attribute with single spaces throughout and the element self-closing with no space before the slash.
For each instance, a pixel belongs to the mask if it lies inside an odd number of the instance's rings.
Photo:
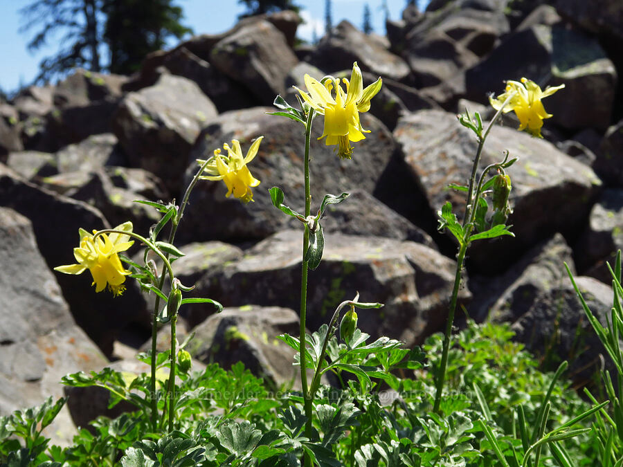
<svg viewBox="0 0 623 467">
<path fill-rule="evenodd" d="M 262 138 L 264 136 L 260 136 L 260 138 L 253 141 L 245 158 L 242 158 L 242 149 L 238 140 L 231 141 L 233 147 L 230 147 L 227 143 L 223 145 L 227 151 L 227 156 L 221 154 L 221 149 L 215 149 L 212 160 L 204 170 L 204 172 L 211 175 L 202 175 L 199 178 L 204 180 L 222 180 L 227 185 L 227 194 L 225 196 L 229 197 L 233 194 L 235 198 L 240 199 L 243 203 L 253 201 L 251 187 L 260 185 L 260 181 L 257 178 L 253 178 L 246 164 L 253 161 L 255 154 L 258 154 Z M 206 163 L 206 161 L 201 161 L 201 159 L 197 159 L 197 162 L 200 165 Z"/>
</svg>

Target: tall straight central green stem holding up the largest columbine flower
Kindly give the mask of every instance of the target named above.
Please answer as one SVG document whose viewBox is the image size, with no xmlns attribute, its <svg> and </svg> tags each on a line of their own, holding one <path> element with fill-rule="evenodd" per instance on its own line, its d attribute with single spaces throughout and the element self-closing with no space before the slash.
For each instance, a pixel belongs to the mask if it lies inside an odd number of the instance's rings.
<svg viewBox="0 0 623 467">
<path fill-rule="evenodd" d="M 309 109 L 307 114 L 307 123 L 305 124 L 305 219 L 311 214 L 311 190 L 309 187 L 309 141 L 311 140 L 311 120 L 314 119 L 314 109 Z M 307 361 L 305 358 L 305 328 L 307 313 L 307 261 L 305 254 L 307 253 L 307 245 L 309 244 L 309 228 L 305 224 L 305 232 L 303 233 L 303 264 L 301 266 L 300 275 L 300 384 L 303 387 L 303 400 L 305 401 L 305 436 L 311 439 L 311 411 L 314 399 L 309 397 L 309 388 L 307 387 Z M 303 455 L 305 467 L 311 467 L 311 459 L 305 453 Z"/>
</svg>

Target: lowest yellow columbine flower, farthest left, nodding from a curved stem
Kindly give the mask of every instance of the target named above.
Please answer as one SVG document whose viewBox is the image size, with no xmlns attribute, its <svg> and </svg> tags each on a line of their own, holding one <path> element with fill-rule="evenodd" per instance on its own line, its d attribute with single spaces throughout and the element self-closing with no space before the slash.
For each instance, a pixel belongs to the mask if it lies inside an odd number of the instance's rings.
<svg viewBox="0 0 623 467">
<path fill-rule="evenodd" d="M 132 232 L 132 222 L 122 223 L 114 230 Z M 114 296 L 121 295 L 125 291 L 125 276 L 131 274 L 121 266 L 118 253 L 127 250 L 134 241 L 128 241 L 129 235 L 118 233 L 98 235 L 94 239 L 87 230 L 80 228 L 80 246 L 73 248 L 73 256 L 78 264 L 57 266 L 55 271 L 65 274 L 81 274 L 89 270 L 93 276 L 93 284 L 96 292 L 101 292 L 108 285 L 109 291 Z M 95 234 L 97 230 L 93 230 Z"/>
</svg>

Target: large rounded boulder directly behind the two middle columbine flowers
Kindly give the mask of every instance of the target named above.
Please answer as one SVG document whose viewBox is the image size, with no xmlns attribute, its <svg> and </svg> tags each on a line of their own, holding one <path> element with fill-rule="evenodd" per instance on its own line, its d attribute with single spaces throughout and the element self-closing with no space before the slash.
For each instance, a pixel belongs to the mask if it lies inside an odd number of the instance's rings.
<svg viewBox="0 0 623 467">
<path fill-rule="evenodd" d="M 249 170 L 262 184 L 253 189 L 255 202 L 244 205 L 233 196 L 225 198 L 226 187 L 222 181 L 200 181 L 192 191 L 190 203 L 201 209 L 184 214 L 184 229 L 179 232 L 181 241 L 262 239 L 289 225 L 291 217 L 271 203 L 268 190 L 273 186 L 285 192 L 287 205 L 299 212 L 304 210 L 303 127 L 287 118 L 265 114 L 275 110 L 255 107 L 223 113 L 197 138 L 190 154 L 187 181 L 199 168 L 195 159 L 212 156 L 223 143 L 231 145 L 233 138 L 240 140 L 246 154 L 251 141 L 264 135 L 258 156 L 249 164 Z M 318 210 L 326 193 L 340 194 L 355 188 L 368 193 L 374 190 L 390 160 L 394 142 L 384 125 L 369 113 L 361 114 L 361 124 L 371 133 L 366 134 L 365 140 L 354 143 L 353 160 L 347 161 L 334 154 L 334 147 L 316 141 L 323 125 L 322 118 L 316 118 L 310 153 L 312 210 Z"/>
</svg>

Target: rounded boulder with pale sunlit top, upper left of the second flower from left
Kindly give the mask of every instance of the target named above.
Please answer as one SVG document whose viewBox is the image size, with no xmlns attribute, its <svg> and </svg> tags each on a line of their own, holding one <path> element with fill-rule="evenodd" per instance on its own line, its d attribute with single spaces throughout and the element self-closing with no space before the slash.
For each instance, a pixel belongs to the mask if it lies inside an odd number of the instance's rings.
<svg viewBox="0 0 623 467">
<path fill-rule="evenodd" d="M 217 115 L 197 84 L 162 75 L 154 85 L 128 93 L 114 114 L 114 133 L 134 167 L 153 172 L 170 192 L 180 190 L 188 152 Z"/>
</svg>

